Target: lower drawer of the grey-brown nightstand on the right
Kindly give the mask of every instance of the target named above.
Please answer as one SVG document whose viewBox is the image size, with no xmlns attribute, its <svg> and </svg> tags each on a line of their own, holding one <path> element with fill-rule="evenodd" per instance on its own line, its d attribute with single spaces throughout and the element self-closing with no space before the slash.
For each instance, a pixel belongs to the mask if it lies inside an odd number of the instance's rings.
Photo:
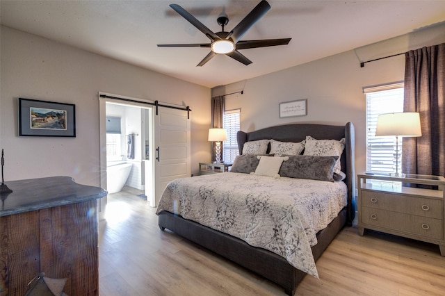
<svg viewBox="0 0 445 296">
<path fill-rule="evenodd" d="M 442 220 L 396 213 L 378 208 L 362 208 L 362 223 L 442 240 Z"/>
</svg>

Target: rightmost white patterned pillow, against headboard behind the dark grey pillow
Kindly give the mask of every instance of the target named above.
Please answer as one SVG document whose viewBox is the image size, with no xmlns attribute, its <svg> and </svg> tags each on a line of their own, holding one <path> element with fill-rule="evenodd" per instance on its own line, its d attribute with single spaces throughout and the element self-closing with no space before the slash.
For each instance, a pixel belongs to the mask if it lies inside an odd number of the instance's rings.
<svg viewBox="0 0 445 296">
<path fill-rule="evenodd" d="M 341 172 L 340 156 L 343 149 L 345 149 L 345 138 L 341 140 L 316 140 L 307 135 L 304 155 L 339 156 L 334 165 L 334 173 L 339 174 Z"/>
</svg>

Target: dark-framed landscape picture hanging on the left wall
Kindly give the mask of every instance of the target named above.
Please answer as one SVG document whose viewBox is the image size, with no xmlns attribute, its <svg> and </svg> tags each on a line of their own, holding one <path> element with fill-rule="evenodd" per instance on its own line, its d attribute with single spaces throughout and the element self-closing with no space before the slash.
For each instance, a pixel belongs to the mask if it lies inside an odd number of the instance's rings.
<svg viewBox="0 0 445 296">
<path fill-rule="evenodd" d="M 75 137 L 76 106 L 19 98 L 19 135 Z"/>
</svg>

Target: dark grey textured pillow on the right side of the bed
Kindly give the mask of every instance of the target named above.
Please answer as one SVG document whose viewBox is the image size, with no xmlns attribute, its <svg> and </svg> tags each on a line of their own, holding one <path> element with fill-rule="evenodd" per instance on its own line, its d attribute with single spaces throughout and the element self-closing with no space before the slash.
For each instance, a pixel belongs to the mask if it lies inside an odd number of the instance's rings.
<svg viewBox="0 0 445 296">
<path fill-rule="evenodd" d="M 280 167 L 280 176 L 333 182 L 334 165 L 339 156 L 289 156 Z"/>
</svg>

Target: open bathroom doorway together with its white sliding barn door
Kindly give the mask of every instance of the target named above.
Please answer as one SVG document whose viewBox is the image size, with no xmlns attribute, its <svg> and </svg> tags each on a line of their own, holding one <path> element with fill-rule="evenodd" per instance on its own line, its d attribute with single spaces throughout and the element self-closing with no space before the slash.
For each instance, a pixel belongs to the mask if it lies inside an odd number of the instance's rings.
<svg viewBox="0 0 445 296">
<path fill-rule="evenodd" d="M 169 181 L 191 175 L 190 110 L 150 104 L 99 93 L 101 187 L 115 192 L 124 181 L 157 206 Z"/>
</svg>

